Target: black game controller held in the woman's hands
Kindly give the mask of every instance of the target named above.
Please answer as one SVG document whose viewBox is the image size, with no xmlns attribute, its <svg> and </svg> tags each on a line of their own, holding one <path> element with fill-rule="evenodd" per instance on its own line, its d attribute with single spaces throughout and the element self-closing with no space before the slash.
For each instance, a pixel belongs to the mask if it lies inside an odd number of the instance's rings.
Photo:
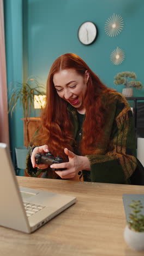
<svg viewBox="0 0 144 256">
<path fill-rule="evenodd" d="M 60 164 L 61 162 L 64 162 L 61 156 L 56 156 L 56 158 L 53 158 L 53 155 L 51 152 L 47 153 L 37 153 L 35 154 L 35 162 L 37 165 L 39 164 L 47 164 L 47 165 L 52 165 L 52 164 Z M 61 169 L 54 169 L 52 168 L 52 171 L 63 171 L 66 170 L 66 168 L 61 168 Z"/>
</svg>

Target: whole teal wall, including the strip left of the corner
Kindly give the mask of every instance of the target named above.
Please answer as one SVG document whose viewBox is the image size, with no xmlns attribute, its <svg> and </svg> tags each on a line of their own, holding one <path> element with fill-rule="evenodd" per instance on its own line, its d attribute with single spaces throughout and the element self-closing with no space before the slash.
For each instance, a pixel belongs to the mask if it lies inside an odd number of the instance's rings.
<svg viewBox="0 0 144 256">
<path fill-rule="evenodd" d="M 122 16 L 124 28 L 111 38 L 104 26 L 113 13 Z M 82 57 L 107 86 L 119 92 L 123 86 L 113 84 L 118 72 L 133 71 L 144 84 L 143 13 L 143 0 L 4 0 L 8 86 L 30 75 L 38 76 L 45 84 L 52 62 L 64 53 Z M 84 21 L 98 27 L 97 40 L 89 46 L 77 38 Z M 125 51 L 125 60 L 115 66 L 110 54 L 117 46 Z M 134 89 L 134 96 L 144 96 L 144 88 Z M 21 117 L 18 107 L 9 118 L 12 151 L 23 144 Z"/>
</svg>

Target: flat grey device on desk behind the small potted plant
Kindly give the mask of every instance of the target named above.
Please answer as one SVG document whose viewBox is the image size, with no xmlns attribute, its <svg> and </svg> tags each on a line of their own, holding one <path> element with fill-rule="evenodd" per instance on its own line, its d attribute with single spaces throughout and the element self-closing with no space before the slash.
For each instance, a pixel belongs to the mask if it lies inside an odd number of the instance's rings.
<svg viewBox="0 0 144 256">
<path fill-rule="evenodd" d="M 129 207 L 131 203 L 133 203 L 132 200 L 138 201 L 140 200 L 142 203 L 143 208 L 141 209 L 141 214 L 144 214 L 144 194 L 123 194 L 123 205 L 124 205 L 124 211 L 125 211 L 125 217 L 127 221 L 129 221 L 129 214 L 133 209 Z"/>
</svg>

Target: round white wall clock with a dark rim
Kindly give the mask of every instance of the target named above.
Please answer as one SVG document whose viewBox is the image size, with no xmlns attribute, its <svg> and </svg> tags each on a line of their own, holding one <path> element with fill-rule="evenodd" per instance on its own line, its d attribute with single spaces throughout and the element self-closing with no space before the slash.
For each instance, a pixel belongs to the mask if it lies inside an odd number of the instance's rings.
<svg viewBox="0 0 144 256">
<path fill-rule="evenodd" d="M 84 22 L 78 31 L 78 38 L 82 44 L 92 44 L 97 36 L 97 27 L 91 21 Z"/>
</svg>

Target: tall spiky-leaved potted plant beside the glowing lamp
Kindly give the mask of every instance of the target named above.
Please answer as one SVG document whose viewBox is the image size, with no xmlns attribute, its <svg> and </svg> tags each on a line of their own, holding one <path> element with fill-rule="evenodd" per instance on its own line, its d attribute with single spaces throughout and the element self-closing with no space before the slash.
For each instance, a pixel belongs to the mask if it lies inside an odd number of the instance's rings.
<svg viewBox="0 0 144 256">
<path fill-rule="evenodd" d="M 9 89 L 10 101 L 9 101 L 9 112 L 12 114 L 20 102 L 23 110 L 23 118 L 26 121 L 26 147 L 16 148 L 16 160 L 17 167 L 20 169 L 25 169 L 26 165 L 26 155 L 28 153 L 28 123 L 29 117 L 31 116 L 31 110 L 34 108 L 34 96 L 35 95 L 45 95 L 45 86 L 38 82 L 35 77 L 30 77 L 26 83 L 13 83 Z M 42 102 L 41 102 L 42 107 Z M 20 155 L 19 155 L 20 153 Z M 23 160 L 22 160 L 23 159 Z"/>
</svg>

